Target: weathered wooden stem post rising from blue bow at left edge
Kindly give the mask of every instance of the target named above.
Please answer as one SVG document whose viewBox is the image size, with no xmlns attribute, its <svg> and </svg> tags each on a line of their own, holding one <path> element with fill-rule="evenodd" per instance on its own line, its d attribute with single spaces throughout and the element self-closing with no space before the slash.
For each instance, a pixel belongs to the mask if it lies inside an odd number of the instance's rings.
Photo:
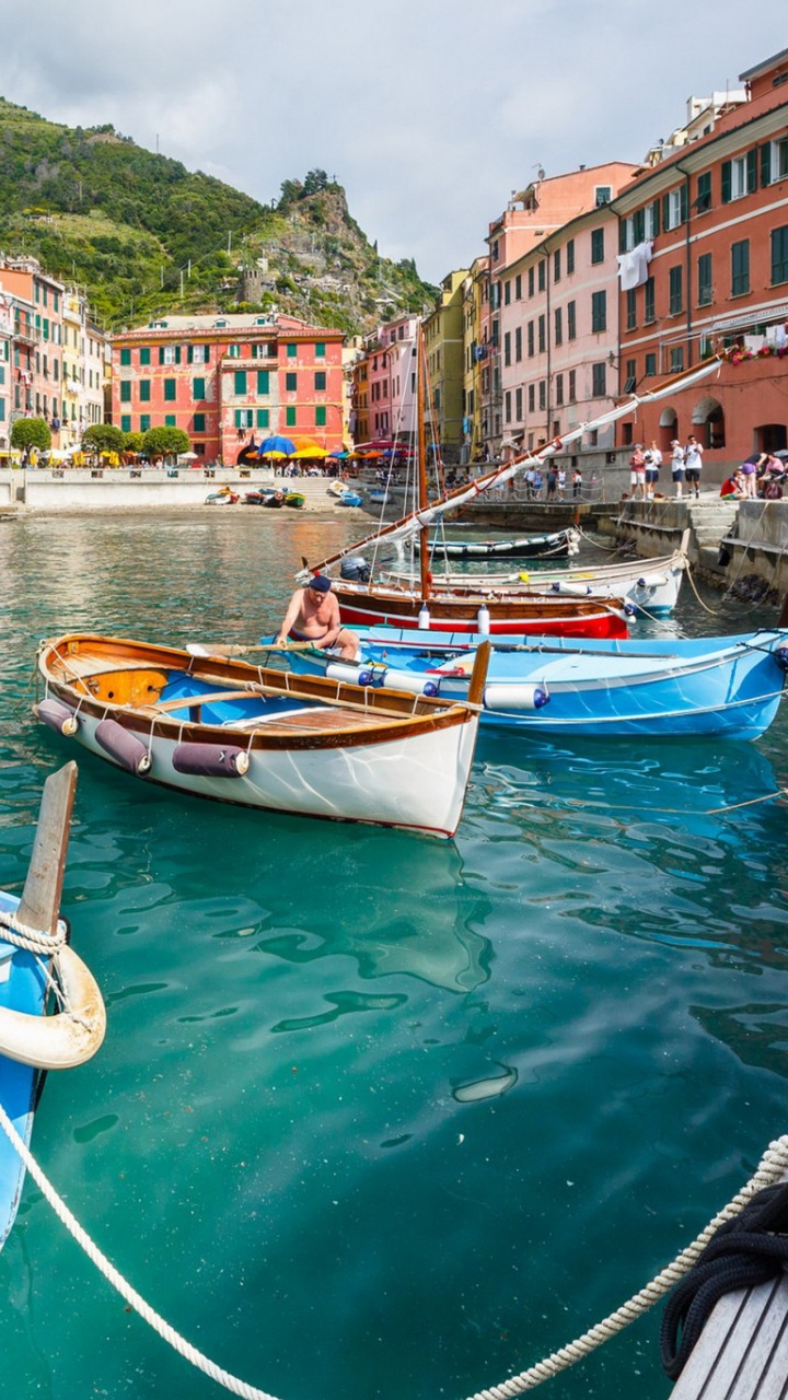
<svg viewBox="0 0 788 1400">
<path fill-rule="evenodd" d="M 52 935 L 57 931 L 76 785 L 76 763 L 66 763 L 43 784 L 32 855 L 18 909 L 22 924 Z"/>
</svg>

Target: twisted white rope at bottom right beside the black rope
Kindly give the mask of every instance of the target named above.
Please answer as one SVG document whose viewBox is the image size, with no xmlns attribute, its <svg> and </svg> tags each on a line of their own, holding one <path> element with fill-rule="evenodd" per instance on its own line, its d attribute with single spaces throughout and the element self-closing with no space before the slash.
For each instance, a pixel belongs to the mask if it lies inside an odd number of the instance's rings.
<svg viewBox="0 0 788 1400">
<path fill-rule="evenodd" d="M 707 1225 L 698 1238 L 687 1246 L 673 1260 L 667 1268 L 663 1268 L 656 1278 L 652 1278 L 651 1284 L 641 1288 L 639 1294 L 630 1298 L 628 1302 L 623 1303 L 614 1313 L 610 1313 L 603 1322 L 599 1322 L 596 1327 L 590 1331 L 585 1331 L 582 1337 L 571 1341 L 568 1347 L 561 1347 L 559 1351 L 554 1351 L 544 1361 L 538 1361 L 536 1366 L 530 1366 L 529 1371 L 520 1372 L 519 1376 L 512 1376 L 509 1380 L 503 1380 L 498 1386 L 492 1386 L 489 1390 L 478 1390 L 470 1400 L 512 1400 L 512 1396 L 523 1394 L 526 1390 L 534 1390 L 536 1386 L 541 1385 L 543 1380 L 550 1380 L 557 1376 L 561 1371 L 566 1371 L 573 1366 L 576 1361 L 582 1361 L 587 1357 L 596 1347 L 602 1347 L 603 1341 L 610 1341 L 617 1333 L 628 1327 L 631 1322 L 641 1317 L 649 1308 L 653 1308 L 660 1298 L 667 1294 L 674 1284 L 683 1278 L 684 1274 L 690 1271 L 698 1254 L 702 1253 L 709 1239 L 719 1229 L 725 1221 L 732 1219 L 735 1215 L 745 1208 L 749 1200 L 761 1191 L 766 1186 L 774 1186 L 775 1182 L 784 1176 L 788 1170 L 788 1135 L 777 1138 L 777 1141 L 770 1142 L 766 1149 L 760 1166 L 754 1176 L 750 1177 L 747 1184 L 742 1187 L 738 1196 L 722 1210 L 714 1219 Z"/>
</svg>

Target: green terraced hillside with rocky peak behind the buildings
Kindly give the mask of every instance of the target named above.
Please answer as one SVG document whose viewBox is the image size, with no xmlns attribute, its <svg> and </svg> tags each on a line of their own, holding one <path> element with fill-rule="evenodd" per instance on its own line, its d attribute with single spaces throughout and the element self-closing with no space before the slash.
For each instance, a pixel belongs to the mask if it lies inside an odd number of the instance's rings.
<svg viewBox="0 0 788 1400">
<path fill-rule="evenodd" d="M 353 335 L 436 295 L 411 259 L 377 256 L 324 171 L 259 204 L 112 126 L 60 126 L 3 98 L 0 249 L 84 287 L 105 329 L 285 311 Z"/>
</svg>

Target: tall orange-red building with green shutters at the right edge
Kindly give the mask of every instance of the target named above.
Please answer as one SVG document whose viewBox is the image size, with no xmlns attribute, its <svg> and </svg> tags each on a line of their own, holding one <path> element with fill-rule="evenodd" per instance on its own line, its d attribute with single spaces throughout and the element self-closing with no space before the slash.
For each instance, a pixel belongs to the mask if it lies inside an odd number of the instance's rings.
<svg viewBox="0 0 788 1400">
<path fill-rule="evenodd" d="M 613 200 L 620 218 L 620 392 L 725 351 L 721 372 L 653 407 L 623 441 L 694 434 L 715 477 L 787 447 L 788 50 Z"/>
</svg>

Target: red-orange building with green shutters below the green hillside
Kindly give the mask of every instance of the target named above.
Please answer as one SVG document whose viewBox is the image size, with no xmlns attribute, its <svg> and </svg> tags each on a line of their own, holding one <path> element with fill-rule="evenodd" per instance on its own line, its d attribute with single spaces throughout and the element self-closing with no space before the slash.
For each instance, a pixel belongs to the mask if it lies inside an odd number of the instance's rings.
<svg viewBox="0 0 788 1400">
<path fill-rule="evenodd" d="M 341 330 L 294 316 L 167 316 L 112 337 L 112 421 L 182 428 L 198 458 L 236 462 L 250 438 L 342 448 Z"/>
</svg>

